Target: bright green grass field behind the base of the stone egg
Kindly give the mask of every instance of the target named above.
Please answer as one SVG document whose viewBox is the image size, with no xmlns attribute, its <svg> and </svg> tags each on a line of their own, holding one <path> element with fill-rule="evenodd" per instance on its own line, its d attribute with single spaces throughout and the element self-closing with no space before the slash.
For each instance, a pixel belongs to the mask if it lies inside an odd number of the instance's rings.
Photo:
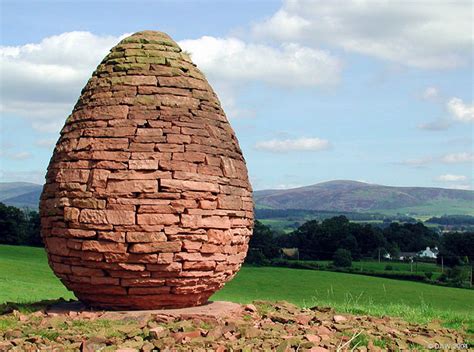
<svg viewBox="0 0 474 352">
<path fill-rule="evenodd" d="M 47 264 L 41 248 L 0 246 L 0 304 L 73 298 Z M 246 303 L 286 300 L 332 306 L 342 312 L 441 319 L 474 325 L 474 291 L 363 275 L 288 268 L 244 267 L 214 300 Z"/>
</svg>

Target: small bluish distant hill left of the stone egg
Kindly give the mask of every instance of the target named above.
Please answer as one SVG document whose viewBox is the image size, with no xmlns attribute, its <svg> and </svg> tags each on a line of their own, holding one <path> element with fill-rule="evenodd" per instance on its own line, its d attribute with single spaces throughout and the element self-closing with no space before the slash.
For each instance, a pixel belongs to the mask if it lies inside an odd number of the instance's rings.
<svg viewBox="0 0 474 352">
<path fill-rule="evenodd" d="M 43 186 L 29 182 L 0 182 L 0 202 L 17 208 L 37 209 Z"/>
</svg>

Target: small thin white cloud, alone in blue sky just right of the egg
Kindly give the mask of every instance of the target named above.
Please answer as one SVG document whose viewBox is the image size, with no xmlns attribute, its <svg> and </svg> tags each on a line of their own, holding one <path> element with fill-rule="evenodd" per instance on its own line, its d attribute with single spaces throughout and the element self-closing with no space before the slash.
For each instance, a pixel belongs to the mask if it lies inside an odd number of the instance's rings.
<svg viewBox="0 0 474 352">
<path fill-rule="evenodd" d="M 330 147 L 329 141 L 320 138 L 272 139 L 255 144 L 256 149 L 269 152 L 321 151 Z"/>
</svg>

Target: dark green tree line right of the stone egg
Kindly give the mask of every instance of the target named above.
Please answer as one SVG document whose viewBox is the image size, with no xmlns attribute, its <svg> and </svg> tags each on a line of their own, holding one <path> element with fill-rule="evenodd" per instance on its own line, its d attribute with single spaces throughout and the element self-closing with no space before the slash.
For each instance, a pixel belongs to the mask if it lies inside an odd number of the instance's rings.
<svg viewBox="0 0 474 352">
<path fill-rule="evenodd" d="M 280 256 L 280 248 L 298 248 L 301 260 L 332 260 L 340 249 L 358 260 L 385 254 L 398 258 L 401 252 L 416 253 L 426 247 L 438 247 L 438 260 L 443 260 L 444 265 L 472 262 L 474 232 L 440 235 L 421 222 L 392 222 L 381 228 L 336 216 L 321 222 L 307 221 L 295 231 L 278 236 L 271 228 L 256 221 L 247 262 L 276 258 Z"/>
</svg>

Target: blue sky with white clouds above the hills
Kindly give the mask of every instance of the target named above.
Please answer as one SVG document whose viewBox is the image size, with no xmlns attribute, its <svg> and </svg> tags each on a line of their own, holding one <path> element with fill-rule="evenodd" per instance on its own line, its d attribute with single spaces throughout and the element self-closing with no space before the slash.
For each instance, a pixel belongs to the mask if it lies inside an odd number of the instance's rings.
<svg viewBox="0 0 474 352">
<path fill-rule="evenodd" d="M 0 0 L 0 181 L 43 183 L 111 47 L 168 33 L 219 96 L 254 189 L 474 189 L 473 3 Z"/>
</svg>

